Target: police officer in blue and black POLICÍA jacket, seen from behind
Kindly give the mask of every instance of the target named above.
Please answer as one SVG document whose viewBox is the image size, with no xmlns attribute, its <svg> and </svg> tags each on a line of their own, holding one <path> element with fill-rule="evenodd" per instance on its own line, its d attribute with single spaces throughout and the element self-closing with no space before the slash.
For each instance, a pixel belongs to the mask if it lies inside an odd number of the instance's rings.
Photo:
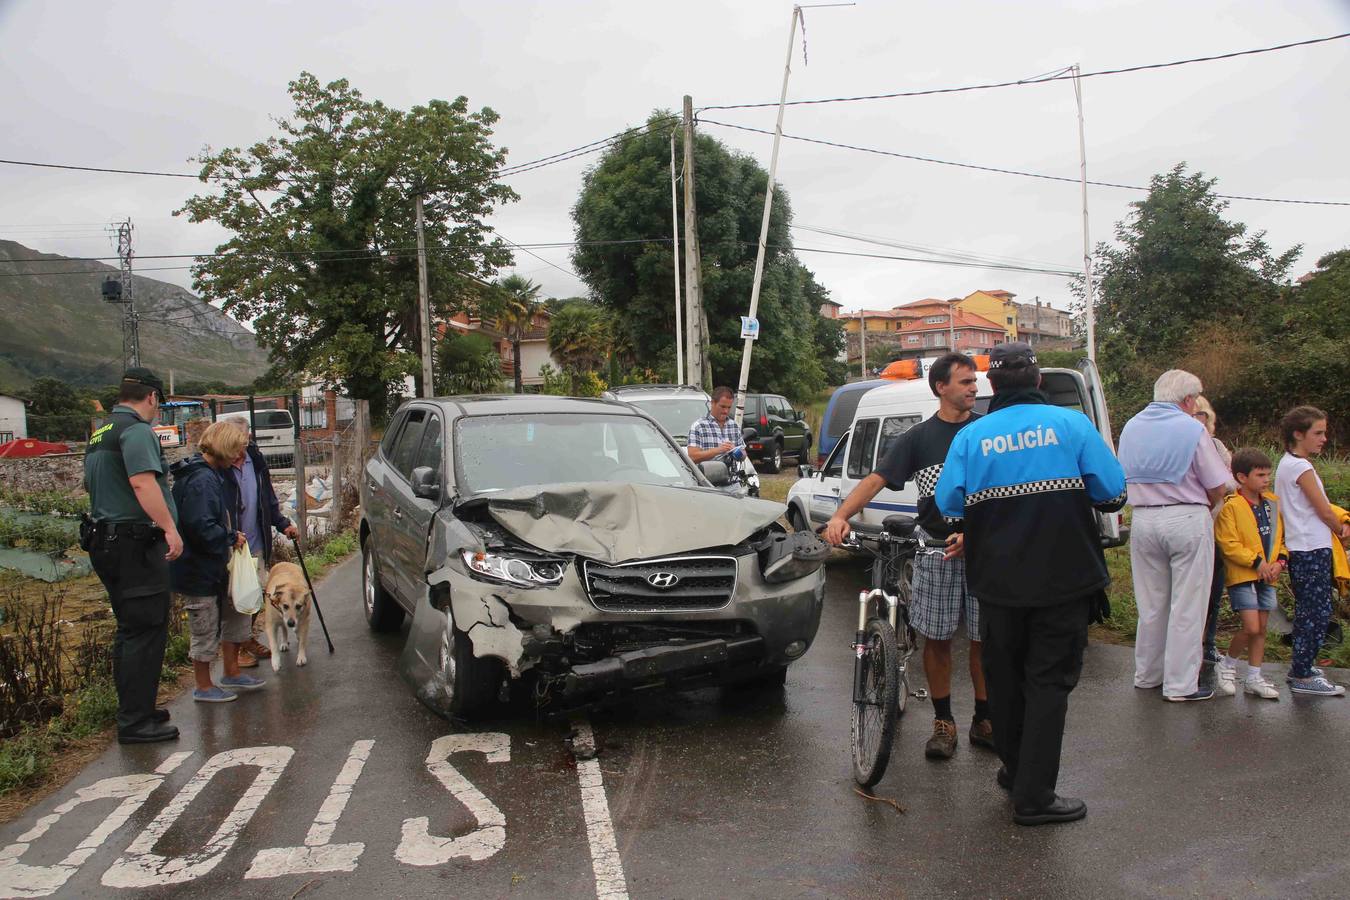
<svg viewBox="0 0 1350 900">
<path fill-rule="evenodd" d="M 952 441 L 936 498 L 961 521 L 965 576 L 980 600 L 1000 787 L 1018 824 L 1072 822 L 1060 746 L 1088 623 L 1110 583 L 1094 506 L 1125 505 L 1125 472 L 1087 416 L 1052 406 L 1027 344 L 990 354 L 990 412 Z"/>
</svg>

